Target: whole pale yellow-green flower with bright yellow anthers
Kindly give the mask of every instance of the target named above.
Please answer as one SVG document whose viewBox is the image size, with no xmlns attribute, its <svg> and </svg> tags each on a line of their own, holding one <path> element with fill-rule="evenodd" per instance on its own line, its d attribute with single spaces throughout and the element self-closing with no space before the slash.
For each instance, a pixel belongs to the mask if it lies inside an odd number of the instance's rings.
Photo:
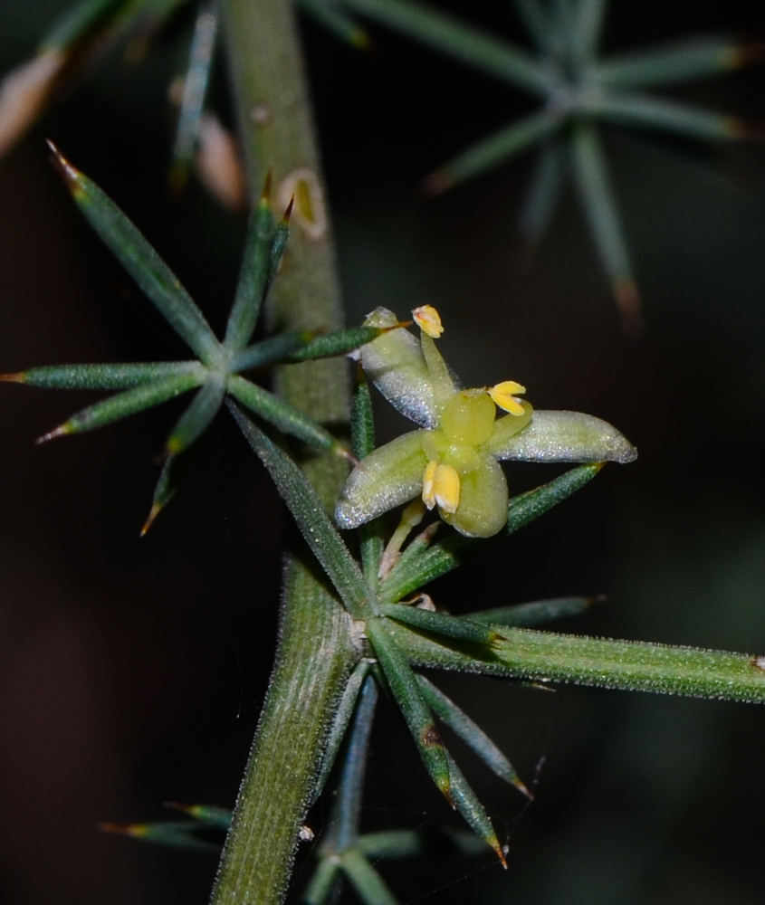
<svg viewBox="0 0 765 905">
<path fill-rule="evenodd" d="M 358 528 L 421 496 L 428 509 L 468 537 L 490 538 L 508 517 L 503 459 L 528 462 L 632 462 L 636 449 L 616 428 L 578 412 L 534 412 L 524 386 L 463 389 L 435 346 L 443 327 L 429 305 L 412 312 L 420 340 L 392 330 L 359 350 L 369 379 L 420 430 L 405 433 L 363 459 L 340 496 L 341 528 Z M 397 323 L 378 308 L 365 321 Z M 502 411 L 498 413 L 497 409 Z M 506 414 L 505 414 L 506 413 Z"/>
</svg>

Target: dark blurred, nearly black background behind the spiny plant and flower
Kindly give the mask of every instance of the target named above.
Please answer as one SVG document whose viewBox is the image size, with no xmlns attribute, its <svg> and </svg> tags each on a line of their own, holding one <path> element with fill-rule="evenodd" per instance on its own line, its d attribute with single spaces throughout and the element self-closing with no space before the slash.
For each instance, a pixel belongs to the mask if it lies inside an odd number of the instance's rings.
<svg viewBox="0 0 765 905">
<path fill-rule="evenodd" d="M 522 40 L 509 4 L 441 5 Z M 612 50 L 709 31 L 761 38 L 765 26 L 747 0 L 693 17 L 655 0 L 612 6 Z M 5 0 L 3 71 L 63 7 Z M 111 57 L 0 165 L 0 369 L 181 354 L 76 212 L 44 137 L 112 195 L 221 326 L 244 219 L 196 183 L 179 202 L 166 191 L 167 84 L 183 65 L 190 12 L 139 67 Z M 303 30 L 349 322 L 377 305 L 404 316 L 435 304 L 445 356 L 467 386 L 520 380 L 537 407 L 597 414 L 640 451 L 495 557 L 436 583 L 437 605 L 463 613 L 607 594 L 560 630 L 765 653 L 763 149 L 608 131 L 645 305 L 645 337 L 627 340 L 572 193 L 531 259 L 513 243 L 526 158 L 433 201 L 417 194 L 443 159 L 525 110 L 521 95 L 382 30 L 370 29 L 366 53 L 311 22 Z M 760 69 L 674 96 L 765 119 L 764 89 Z M 225 110 L 223 62 L 213 92 Z M 233 803 L 272 662 L 285 519 L 222 418 L 141 540 L 167 406 L 34 447 L 73 402 L 15 386 L 0 394 L 0 896 L 202 903 L 214 857 L 96 826 L 161 818 L 166 800 Z M 383 439 L 400 432 L 403 421 L 380 414 Z M 542 480 L 531 465 L 508 472 L 516 492 Z M 441 684 L 527 783 L 536 777 L 537 798 L 523 810 L 476 773 L 508 834 L 509 872 L 491 857 L 437 853 L 389 865 L 402 902 L 760 902 L 760 709 Z M 380 711 L 366 828 L 456 825 L 406 728 Z"/>
</svg>

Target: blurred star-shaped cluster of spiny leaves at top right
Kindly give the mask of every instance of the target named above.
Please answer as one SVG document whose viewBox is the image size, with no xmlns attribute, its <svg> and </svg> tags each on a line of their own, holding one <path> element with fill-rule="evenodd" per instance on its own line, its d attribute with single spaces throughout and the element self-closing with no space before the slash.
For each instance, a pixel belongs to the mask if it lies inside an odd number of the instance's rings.
<svg viewBox="0 0 765 905">
<path fill-rule="evenodd" d="M 539 110 L 483 138 L 428 176 L 426 192 L 437 195 L 538 148 L 521 233 L 531 243 L 540 240 L 570 173 L 626 329 L 639 329 L 640 297 L 600 127 L 655 129 L 709 141 L 755 137 L 758 130 L 741 119 L 646 89 L 757 62 L 761 49 L 712 36 L 601 56 L 607 0 L 515 0 L 533 51 L 416 0 L 342 3 L 540 100 Z"/>
</svg>

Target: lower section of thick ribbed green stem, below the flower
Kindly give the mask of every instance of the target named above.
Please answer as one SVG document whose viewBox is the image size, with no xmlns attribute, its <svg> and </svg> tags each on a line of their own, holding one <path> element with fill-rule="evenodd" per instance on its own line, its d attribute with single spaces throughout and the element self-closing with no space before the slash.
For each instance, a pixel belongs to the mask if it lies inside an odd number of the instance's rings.
<svg viewBox="0 0 765 905">
<path fill-rule="evenodd" d="M 215 881 L 215 905 L 275 905 L 287 889 L 330 719 L 352 656 L 348 618 L 300 562 L 282 639 Z"/>
</svg>

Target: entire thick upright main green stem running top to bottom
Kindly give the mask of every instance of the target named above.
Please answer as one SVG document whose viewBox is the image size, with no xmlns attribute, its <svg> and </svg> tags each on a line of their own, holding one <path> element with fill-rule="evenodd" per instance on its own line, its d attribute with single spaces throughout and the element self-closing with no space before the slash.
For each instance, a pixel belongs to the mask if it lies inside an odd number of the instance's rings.
<svg viewBox="0 0 765 905">
<path fill-rule="evenodd" d="M 273 287 L 272 324 L 337 329 L 339 285 L 292 5 L 224 0 L 223 9 L 251 196 L 255 201 L 268 170 L 274 205 L 286 206 L 289 196 L 284 196 L 295 195 L 292 238 Z M 348 420 L 341 360 L 283 367 L 277 388 L 317 420 Z M 306 472 L 324 505 L 333 506 L 344 479 L 342 462 L 337 456 L 315 457 Z M 283 900 L 331 720 L 356 659 L 348 616 L 309 557 L 305 550 L 288 565 L 281 641 L 215 882 L 215 905 Z"/>
</svg>

